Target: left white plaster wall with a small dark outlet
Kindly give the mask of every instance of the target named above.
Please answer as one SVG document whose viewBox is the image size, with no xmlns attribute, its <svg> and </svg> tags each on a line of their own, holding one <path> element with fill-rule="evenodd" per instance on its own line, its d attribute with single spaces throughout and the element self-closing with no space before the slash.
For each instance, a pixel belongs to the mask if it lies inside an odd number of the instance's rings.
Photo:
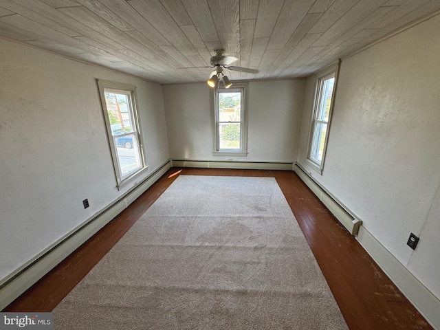
<svg viewBox="0 0 440 330">
<path fill-rule="evenodd" d="M 116 188 L 96 78 L 137 86 L 140 179 L 169 157 L 158 84 L 3 39 L 0 76 L 1 280 L 135 184 Z"/>
</svg>

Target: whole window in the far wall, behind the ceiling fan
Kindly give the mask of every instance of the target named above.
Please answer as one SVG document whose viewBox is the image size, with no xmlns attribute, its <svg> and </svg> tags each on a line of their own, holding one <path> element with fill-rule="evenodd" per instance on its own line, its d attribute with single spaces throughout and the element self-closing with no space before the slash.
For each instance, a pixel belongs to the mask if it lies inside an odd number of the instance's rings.
<svg viewBox="0 0 440 330">
<path fill-rule="evenodd" d="M 239 84 L 234 84 L 239 85 Z M 215 89 L 214 155 L 247 155 L 245 85 Z"/>
</svg>

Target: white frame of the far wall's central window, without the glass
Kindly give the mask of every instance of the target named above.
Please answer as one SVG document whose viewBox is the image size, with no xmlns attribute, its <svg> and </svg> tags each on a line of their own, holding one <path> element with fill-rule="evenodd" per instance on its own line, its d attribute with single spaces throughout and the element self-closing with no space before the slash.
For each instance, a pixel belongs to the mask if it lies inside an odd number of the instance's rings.
<svg viewBox="0 0 440 330">
<path fill-rule="evenodd" d="M 220 132 L 219 132 L 219 93 L 239 91 L 241 93 L 241 107 L 240 107 L 240 146 L 236 149 L 222 149 L 220 148 Z M 216 88 L 214 89 L 214 144 L 213 155 L 217 156 L 241 156 L 248 155 L 248 115 L 247 115 L 247 95 L 248 95 L 248 83 L 234 83 L 232 87 Z"/>
</svg>

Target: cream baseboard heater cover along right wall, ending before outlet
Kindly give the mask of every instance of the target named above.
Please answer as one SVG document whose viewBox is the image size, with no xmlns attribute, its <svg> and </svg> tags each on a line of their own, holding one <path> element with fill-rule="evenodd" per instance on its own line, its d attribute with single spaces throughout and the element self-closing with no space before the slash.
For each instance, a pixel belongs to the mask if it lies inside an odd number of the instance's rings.
<svg viewBox="0 0 440 330">
<path fill-rule="evenodd" d="M 294 165 L 294 171 L 300 177 L 301 180 L 310 188 L 312 192 L 322 201 L 322 203 L 327 206 L 331 214 L 333 214 L 336 219 L 346 228 L 350 234 L 357 236 L 359 232 L 359 227 L 362 225 L 360 219 L 353 217 L 345 208 L 343 208 L 336 199 L 331 197 L 322 187 L 311 179 L 311 177 L 305 173 L 305 170 L 300 168 L 298 164 Z"/>
</svg>

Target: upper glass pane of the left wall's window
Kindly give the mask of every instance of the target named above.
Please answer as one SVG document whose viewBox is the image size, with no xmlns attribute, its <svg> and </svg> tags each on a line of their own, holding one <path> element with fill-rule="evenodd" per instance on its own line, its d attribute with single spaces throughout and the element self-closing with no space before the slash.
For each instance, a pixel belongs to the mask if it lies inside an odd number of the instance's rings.
<svg viewBox="0 0 440 330">
<path fill-rule="evenodd" d="M 129 95 L 106 91 L 104 92 L 104 98 L 107 104 L 107 115 L 109 115 L 112 135 L 134 131 L 130 115 Z"/>
</svg>

